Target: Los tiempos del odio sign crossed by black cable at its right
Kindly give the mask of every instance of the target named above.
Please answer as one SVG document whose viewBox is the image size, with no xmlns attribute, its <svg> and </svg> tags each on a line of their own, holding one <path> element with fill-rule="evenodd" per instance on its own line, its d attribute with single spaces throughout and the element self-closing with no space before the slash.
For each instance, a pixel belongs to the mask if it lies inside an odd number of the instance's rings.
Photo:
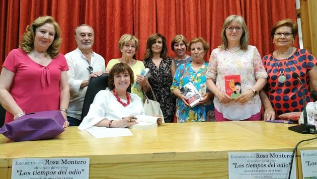
<svg viewBox="0 0 317 179">
<path fill-rule="evenodd" d="M 292 152 L 229 152 L 230 178 L 288 178 Z M 293 159 L 291 178 L 296 178 Z"/>
</svg>

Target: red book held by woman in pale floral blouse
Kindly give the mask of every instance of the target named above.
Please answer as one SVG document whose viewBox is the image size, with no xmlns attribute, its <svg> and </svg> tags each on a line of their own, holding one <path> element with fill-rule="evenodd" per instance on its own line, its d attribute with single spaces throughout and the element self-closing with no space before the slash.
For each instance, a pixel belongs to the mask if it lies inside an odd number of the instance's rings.
<svg viewBox="0 0 317 179">
<path fill-rule="evenodd" d="M 235 99 L 241 95 L 241 76 L 236 75 L 225 75 L 225 93 L 231 98 Z"/>
</svg>

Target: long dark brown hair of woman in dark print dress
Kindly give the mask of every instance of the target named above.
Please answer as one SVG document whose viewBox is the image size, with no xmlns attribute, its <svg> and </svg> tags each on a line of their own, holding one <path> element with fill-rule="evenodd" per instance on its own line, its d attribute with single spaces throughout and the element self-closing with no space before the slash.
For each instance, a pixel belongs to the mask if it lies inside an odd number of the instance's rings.
<svg viewBox="0 0 317 179">
<path fill-rule="evenodd" d="M 163 59 L 166 59 L 166 58 L 167 58 L 166 38 L 165 38 L 162 34 L 155 33 L 155 34 L 150 35 L 150 36 L 147 38 L 147 41 L 146 41 L 146 49 L 145 49 L 145 54 L 144 54 L 144 59 L 149 59 L 149 58 L 152 58 L 152 57 L 153 57 L 152 45 L 153 45 L 153 43 L 156 41 L 156 39 L 158 39 L 158 38 L 160 38 L 160 37 L 161 37 L 161 39 L 162 39 L 162 44 L 163 44 L 160 57 L 163 58 Z"/>
</svg>

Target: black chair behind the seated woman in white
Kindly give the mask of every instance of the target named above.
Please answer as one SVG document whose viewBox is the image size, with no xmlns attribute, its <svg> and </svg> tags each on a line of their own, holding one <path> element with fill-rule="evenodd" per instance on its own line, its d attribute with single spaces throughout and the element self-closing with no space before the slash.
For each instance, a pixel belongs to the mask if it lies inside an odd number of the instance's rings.
<svg viewBox="0 0 317 179">
<path fill-rule="evenodd" d="M 98 77 L 92 77 L 89 81 L 87 92 L 84 99 L 84 105 L 82 110 L 82 117 L 81 121 L 87 116 L 90 105 L 94 102 L 94 98 L 96 94 L 101 91 L 105 90 L 108 86 L 108 74 L 104 73 Z M 127 92 L 131 93 L 131 88 L 127 88 Z"/>
</svg>

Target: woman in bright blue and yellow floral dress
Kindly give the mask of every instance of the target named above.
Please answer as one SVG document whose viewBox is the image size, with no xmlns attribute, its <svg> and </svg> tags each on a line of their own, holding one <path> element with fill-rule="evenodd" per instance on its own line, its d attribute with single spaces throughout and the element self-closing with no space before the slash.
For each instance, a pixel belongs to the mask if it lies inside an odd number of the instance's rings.
<svg viewBox="0 0 317 179">
<path fill-rule="evenodd" d="M 213 94 L 207 92 L 206 72 L 208 63 L 204 56 L 209 49 L 209 45 L 202 38 L 194 38 L 188 45 L 192 61 L 180 65 L 176 70 L 171 91 L 178 97 L 176 117 L 178 122 L 203 122 L 212 121 L 213 104 L 210 100 Z M 190 107 L 187 98 L 182 94 L 181 88 L 188 82 L 192 82 L 202 99 L 197 106 Z"/>
</svg>

